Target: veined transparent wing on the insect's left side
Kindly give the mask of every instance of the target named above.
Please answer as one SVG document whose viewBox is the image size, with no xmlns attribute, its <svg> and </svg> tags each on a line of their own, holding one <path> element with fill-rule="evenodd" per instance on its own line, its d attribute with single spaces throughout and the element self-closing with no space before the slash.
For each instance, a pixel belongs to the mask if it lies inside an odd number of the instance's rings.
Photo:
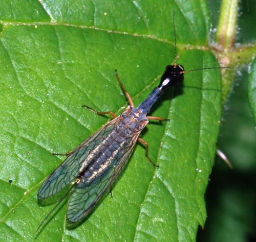
<svg viewBox="0 0 256 242">
<path fill-rule="evenodd" d="M 46 179 L 38 191 L 38 199 L 46 199 L 65 188 L 79 175 L 81 169 L 87 167 L 90 159 L 87 159 L 93 151 L 105 140 L 115 126 L 119 123 L 119 118 L 111 120 L 89 138 L 84 140 L 79 146 L 63 161 L 56 170 Z"/>
</svg>

